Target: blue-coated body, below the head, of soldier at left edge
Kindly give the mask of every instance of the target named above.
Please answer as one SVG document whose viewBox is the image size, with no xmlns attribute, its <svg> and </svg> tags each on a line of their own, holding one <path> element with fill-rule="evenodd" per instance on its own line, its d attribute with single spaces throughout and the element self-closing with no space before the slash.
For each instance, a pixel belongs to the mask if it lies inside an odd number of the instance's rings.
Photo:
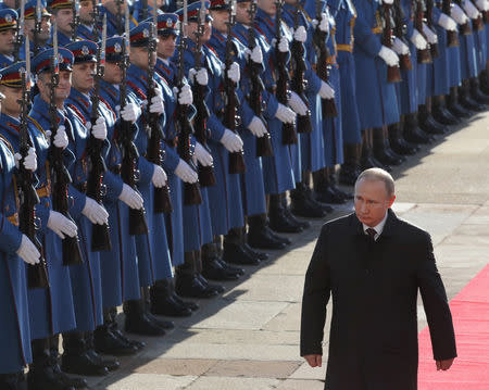
<svg viewBox="0 0 489 390">
<path fill-rule="evenodd" d="M 1 97 L 1 96 L 0 96 Z M 35 155 L 35 154 L 34 154 Z M 36 171 L 36 159 L 24 161 L 24 166 Z M 18 230 L 20 199 L 14 175 L 14 151 L 0 136 L 0 388 L 25 389 L 24 368 L 32 362 L 30 330 L 27 304 L 27 264 L 39 263 L 35 244 Z"/>
</svg>

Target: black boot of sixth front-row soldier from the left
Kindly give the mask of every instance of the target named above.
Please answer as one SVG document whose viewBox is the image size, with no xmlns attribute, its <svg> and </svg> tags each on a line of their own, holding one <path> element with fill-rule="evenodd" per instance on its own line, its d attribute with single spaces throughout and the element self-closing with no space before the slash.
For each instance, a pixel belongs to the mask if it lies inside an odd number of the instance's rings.
<svg viewBox="0 0 489 390">
<path fill-rule="evenodd" d="M 192 311 L 175 299 L 170 279 L 158 280 L 150 289 L 151 313 L 171 317 L 188 317 Z"/>
</svg>

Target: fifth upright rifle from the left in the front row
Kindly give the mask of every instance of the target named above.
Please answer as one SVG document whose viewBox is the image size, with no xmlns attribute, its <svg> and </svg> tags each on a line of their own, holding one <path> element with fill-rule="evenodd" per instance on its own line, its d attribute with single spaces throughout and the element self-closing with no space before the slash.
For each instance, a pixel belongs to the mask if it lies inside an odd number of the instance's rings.
<svg viewBox="0 0 489 390">
<path fill-rule="evenodd" d="M 146 112 L 146 131 L 149 136 L 147 158 L 148 161 L 161 166 L 161 140 L 163 139 L 163 130 L 160 125 L 160 115 L 149 111 L 151 100 L 156 96 L 156 85 L 154 81 L 154 56 L 156 54 L 156 8 L 153 8 L 153 20 L 150 28 L 149 45 L 148 45 L 148 87 L 146 89 L 147 96 L 147 112 Z M 170 198 L 168 186 L 156 188 L 154 187 L 154 213 L 170 213 L 173 210 L 172 200 Z"/>
</svg>

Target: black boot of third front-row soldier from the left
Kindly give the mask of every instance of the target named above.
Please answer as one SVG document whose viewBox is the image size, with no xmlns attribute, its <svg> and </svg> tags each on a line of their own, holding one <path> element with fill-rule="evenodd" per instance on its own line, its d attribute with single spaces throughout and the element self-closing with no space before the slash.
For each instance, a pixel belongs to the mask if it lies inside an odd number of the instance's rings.
<svg viewBox="0 0 489 390">
<path fill-rule="evenodd" d="M 85 376 L 104 376 L 109 374 L 109 368 L 100 365 L 88 353 L 83 332 L 71 331 L 63 334 L 63 350 L 61 369 L 64 373 Z"/>
</svg>

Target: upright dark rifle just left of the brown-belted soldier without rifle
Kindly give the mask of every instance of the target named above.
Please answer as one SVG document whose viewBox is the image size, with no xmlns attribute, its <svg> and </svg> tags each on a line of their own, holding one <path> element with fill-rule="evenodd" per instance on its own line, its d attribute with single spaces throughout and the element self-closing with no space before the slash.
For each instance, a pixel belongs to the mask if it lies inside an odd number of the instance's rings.
<svg viewBox="0 0 489 390">
<path fill-rule="evenodd" d="M 319 28 L 321 17 L 323 11 L 323 2 L 316 0 L 316 20 L 317 26 L 314 28 L 313 42 L 317 51 L 316 73 L 319 78 L 328 83 L 330 65 L 328 65 L 328 58 L 330 56 L 329 48 L 326 45 L 327 33 Z M 323 117 L 338 116 L 338 109 L 336 108 L 335 99 L 322 99 Z"/>
</svg>

